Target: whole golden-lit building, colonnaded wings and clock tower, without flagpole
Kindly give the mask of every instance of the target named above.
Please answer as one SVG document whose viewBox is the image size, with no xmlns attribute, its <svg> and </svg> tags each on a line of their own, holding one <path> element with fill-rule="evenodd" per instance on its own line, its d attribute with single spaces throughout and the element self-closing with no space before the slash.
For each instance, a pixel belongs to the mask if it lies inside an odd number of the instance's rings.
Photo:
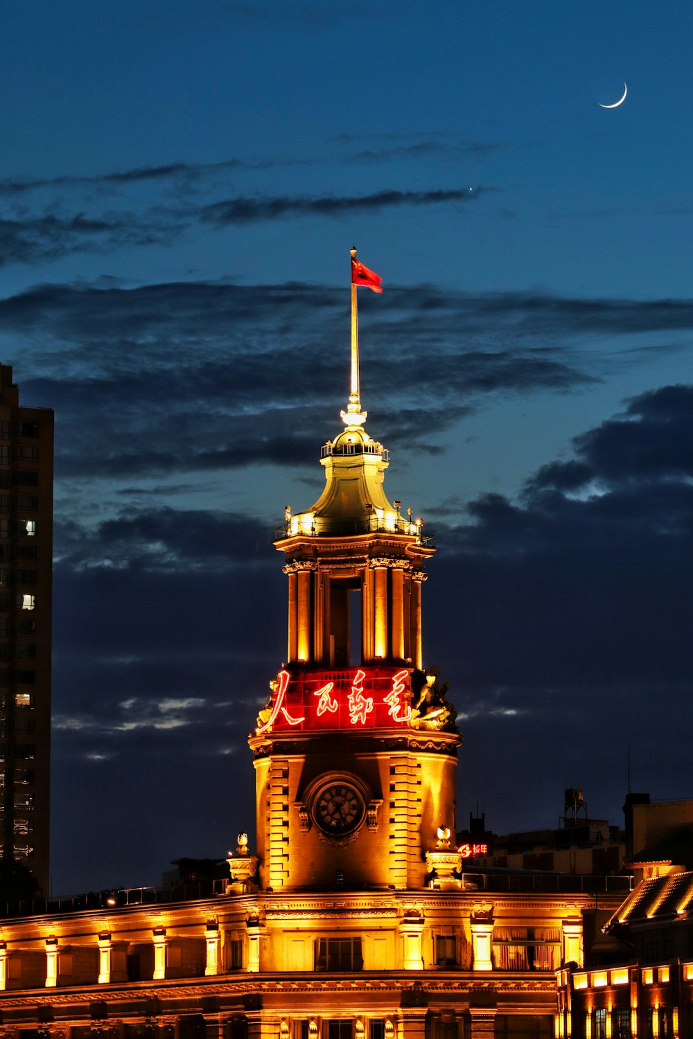
<svg viewBox="0 0 693 1039">
<path fill-rule="evenodd" d="M 434 544 L 385 497 L 353 369 L 342 418 L 322 494 L 275 541 L 288 635 L 248 739 L 255 852 L 240 834 L 213 898 L 0 922 L 7 1039 L 553 1035 L 556 970 L 620 897 L 462 873 L 461 737 L 424 665 Z"/>
</svg>

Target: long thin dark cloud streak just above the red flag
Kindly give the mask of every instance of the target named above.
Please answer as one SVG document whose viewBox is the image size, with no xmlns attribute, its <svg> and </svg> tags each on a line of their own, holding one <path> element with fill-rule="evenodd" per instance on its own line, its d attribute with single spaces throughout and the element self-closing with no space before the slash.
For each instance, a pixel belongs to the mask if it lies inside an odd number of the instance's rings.
<svg viewBox="0 0 693 1039">
<path fill-rule="evenodd" d="M 375 191 L 369 195 L 323 195 L 310 197 L 278 195 L 275 197 L 240 196 L 205 206 L 199 213 L 203 221 L 226 227 L 275 220 L 285 216 L 338 216 L 342 213 L 372 213 L 399 206 L 431 206 L 449 202 L 472 202 L 488 188 L 470 187 L 434 191 Z"/>
</svg>

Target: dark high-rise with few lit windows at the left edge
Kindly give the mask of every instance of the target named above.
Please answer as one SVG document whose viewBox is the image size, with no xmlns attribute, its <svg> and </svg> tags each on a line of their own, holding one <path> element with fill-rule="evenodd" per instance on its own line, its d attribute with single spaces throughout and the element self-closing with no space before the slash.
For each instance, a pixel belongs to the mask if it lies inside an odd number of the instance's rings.
<svg viewBox="0 0 693 1039">
<path fill-rule="evenodd" d="M 53 412 L 0 365 L 0 846 L 49 889 Z"/>
</svg>

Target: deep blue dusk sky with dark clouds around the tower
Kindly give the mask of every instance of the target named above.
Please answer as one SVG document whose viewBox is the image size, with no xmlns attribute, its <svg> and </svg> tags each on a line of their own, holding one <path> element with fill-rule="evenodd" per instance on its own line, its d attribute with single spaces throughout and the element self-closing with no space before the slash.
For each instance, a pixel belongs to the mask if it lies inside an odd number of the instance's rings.
<svg viewBox="0 0 693 1039">
<path fill-rule="evenodd" d="M 0 359 L 56 416 L 53 893 L 252 830 L 284 507 L 436 535 L 458 825 L 692 797 L 688 3 L 5 0 Z M 623 92 L 618 108 L 603 108 Z"/>
</svg>

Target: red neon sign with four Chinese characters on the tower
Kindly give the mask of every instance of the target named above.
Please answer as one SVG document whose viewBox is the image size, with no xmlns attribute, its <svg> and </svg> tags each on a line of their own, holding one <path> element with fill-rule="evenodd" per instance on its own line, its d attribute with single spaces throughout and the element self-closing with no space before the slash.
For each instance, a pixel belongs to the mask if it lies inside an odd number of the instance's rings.
<svg viewBox="0 0 693 1039">
<path fill-rule="evenodd" d="M 392 728 L 411 720 L 410 671 L 346 668 L 279 671 L 269 719 L 256 729 Z"/>
</svg>

